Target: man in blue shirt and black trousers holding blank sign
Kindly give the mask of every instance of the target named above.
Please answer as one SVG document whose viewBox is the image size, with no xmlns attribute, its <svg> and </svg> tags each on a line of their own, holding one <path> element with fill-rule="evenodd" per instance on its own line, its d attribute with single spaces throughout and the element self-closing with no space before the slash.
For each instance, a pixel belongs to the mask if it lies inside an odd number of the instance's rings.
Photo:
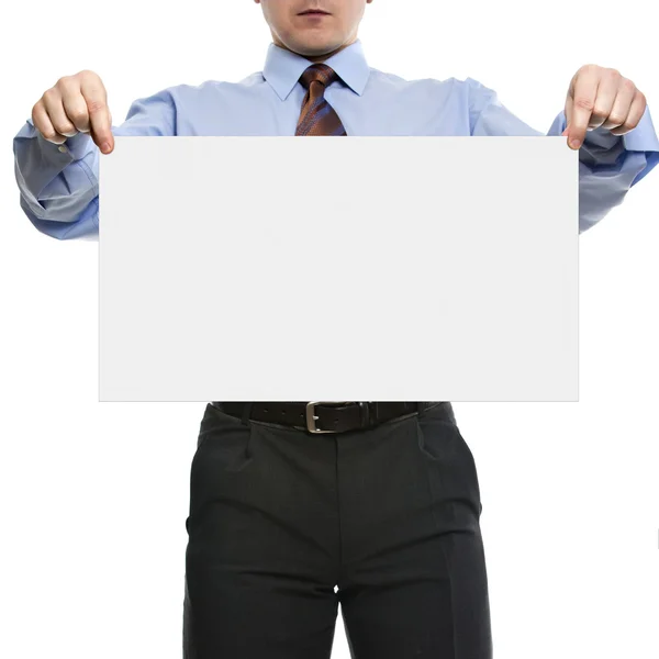
<svg viewBox="0 0 659 659">
<path fill-rule="evenodd" d="M 96 238 L 99 158 L 114 135 L 543 134 L 474 79 L 369 67 L 358 27 L 372 0 L 255 2 L 272 43 L 241 82 L 161 90 L 121 126 L 93 71 L 38 99 L 14 155 L 40 232 Z M 657 165 L 659 141 L 617 70 L 585 65 L 566 83 L 547 134 L 579 149 L 584 232 Z M 481 511 L 448 402 L 209 403 L 190 474 L 183 655 L 326 659 L 340 603 L 354 659 L 488 659 Z"/>
</svg>

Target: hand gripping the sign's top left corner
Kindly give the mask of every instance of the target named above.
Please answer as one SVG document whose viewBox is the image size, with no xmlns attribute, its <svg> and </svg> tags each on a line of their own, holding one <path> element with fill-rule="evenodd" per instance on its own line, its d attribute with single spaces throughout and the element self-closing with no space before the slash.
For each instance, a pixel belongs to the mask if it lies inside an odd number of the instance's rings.
<svg viewBox="0 0 659 659">
<path fill-rule="evenodd" d="M 93 71 L 59 78 L 32 108 L 32 121 L 44 139 L 53 144 L 63 144 L 77 133 L 90 133 L 101 153 L 114 148 L 108 94 Z"/>
</svg>

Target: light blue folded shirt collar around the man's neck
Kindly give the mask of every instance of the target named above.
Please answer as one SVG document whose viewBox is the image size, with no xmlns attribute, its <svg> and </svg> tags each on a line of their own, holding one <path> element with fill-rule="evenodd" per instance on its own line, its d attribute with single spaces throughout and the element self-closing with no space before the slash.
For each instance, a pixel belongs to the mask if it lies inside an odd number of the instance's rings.
<svg viewBox="0 0 659 659">
<path fill-rule="evenodd" d="M 300 76 L 312 64 L 302 55 L 271 43 L 264 66 L 264 78 L 284 101 L 300 80 Z M 323 64 L 331 66 L 355 93 L 358 96 L 364 93 L 370 68 L 364 56 L 360 40 L 327 58 Z"/>
</svg>

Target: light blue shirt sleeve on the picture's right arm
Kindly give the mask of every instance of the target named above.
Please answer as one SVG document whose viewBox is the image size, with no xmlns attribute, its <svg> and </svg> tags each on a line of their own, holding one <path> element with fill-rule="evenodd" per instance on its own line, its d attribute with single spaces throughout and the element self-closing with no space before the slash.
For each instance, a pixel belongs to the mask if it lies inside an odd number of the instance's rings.
<svg viewBox="0 0 659 659">
<path fill-rule="evenodd" d="M 472 135 L 551 135 L 566 130 L 560 112 L 547 133 L 532 129 L 507 110 L 492 89 L 467 78 Z M 567 138 L 566 138 L 567 142 Z M 566 145 L 566 148 L 567 145 Z M 622 136 L 605 129 L 588 131 L 579 149 L 579 233 L 591 228 L 659 163 L 659 139 L 649 107 L 639 124 Z"/>
</svg>

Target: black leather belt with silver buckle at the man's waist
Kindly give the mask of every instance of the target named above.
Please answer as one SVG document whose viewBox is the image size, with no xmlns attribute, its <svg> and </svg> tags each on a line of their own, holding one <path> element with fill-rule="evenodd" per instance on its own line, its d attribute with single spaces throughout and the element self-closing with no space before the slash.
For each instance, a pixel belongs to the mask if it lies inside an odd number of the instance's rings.
<svg viewBox="0 0 659 659">
<path fill-rule="evenodd" d="M 231 416 L 291 426 L 309 433 L 345 433 L 377 426 L 393 418 L 448 405 L 447 420 L 455 420 L 450 403 L 412 402 L 211 402 Z M 249 409 L 248 405 L 252 407 Z"/>
</svg>

